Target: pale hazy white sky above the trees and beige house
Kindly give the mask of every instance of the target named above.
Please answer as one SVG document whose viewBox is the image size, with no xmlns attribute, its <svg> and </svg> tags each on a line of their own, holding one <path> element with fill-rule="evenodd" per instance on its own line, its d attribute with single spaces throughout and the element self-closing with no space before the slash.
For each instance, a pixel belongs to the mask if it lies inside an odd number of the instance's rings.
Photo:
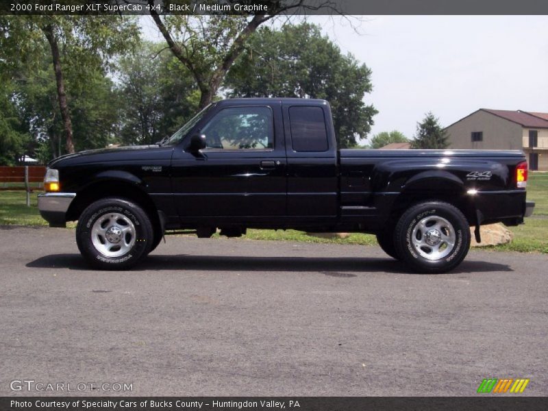
<svg viewBox="0 0 548 411">
<path fill-rule="evenodd" d="M 548 16 L 313 16 L 371 69 L 369 137 L 409 138 L 425 113 L 446 127 L 479 108 L 548 112 Z M 149 17 L 145 37 L 161 40 Z"/>
</svg>

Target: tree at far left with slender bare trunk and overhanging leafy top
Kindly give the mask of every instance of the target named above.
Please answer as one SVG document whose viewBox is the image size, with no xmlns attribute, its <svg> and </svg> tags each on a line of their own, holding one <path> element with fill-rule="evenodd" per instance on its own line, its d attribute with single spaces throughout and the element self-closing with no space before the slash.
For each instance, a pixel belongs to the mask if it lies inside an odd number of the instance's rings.
<svg viewBox="0 0 548 411">
<path fill-rule="evenodd" d="M 103 71 L 112 55 L 132 47 L 138 39 L 133 18 L 122 16 L 3 16 L 0 20 L 0 59 L 34 53 L 47 40 L 63 121 L 66 151 L 74 152 L 73 124 L 67 99 L 66 71 L 86 84 L 88 68 Z M 42 36 L 40 36 L 40 34 Z M 77 85 L 77 82 L 74 83 Z"/>
</svg>

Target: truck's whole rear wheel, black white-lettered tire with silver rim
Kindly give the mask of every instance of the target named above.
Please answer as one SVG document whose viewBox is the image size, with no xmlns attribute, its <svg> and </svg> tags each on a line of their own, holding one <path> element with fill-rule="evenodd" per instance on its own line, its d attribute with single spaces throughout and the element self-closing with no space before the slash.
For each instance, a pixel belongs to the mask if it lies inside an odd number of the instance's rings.
<svg viewBox="0 0 548 411">
<path fill-rule="evenodd" d="M 412 271 L 446 273 L 464 260 L 470 237 L 469 223 L 458 208 L 428 201 L 403 213 L 396 225 L 394 244 Z"/>
</svg>

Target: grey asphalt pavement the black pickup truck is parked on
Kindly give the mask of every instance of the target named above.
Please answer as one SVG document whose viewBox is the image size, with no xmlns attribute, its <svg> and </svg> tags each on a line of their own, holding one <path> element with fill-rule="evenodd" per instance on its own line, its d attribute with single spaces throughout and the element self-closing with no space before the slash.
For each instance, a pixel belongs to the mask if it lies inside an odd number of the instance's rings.
<svg viewBox="0 0 548 411">
<path fill-rule="evenodd" d="M 171 237 L 91 271 L 70 229 L 0 227 L 0 395 L 547 395 L 548 257 L 415 275 L 378 247 Z M 16 384 L 17 386 L 17 384 Z"/>
</svg>

